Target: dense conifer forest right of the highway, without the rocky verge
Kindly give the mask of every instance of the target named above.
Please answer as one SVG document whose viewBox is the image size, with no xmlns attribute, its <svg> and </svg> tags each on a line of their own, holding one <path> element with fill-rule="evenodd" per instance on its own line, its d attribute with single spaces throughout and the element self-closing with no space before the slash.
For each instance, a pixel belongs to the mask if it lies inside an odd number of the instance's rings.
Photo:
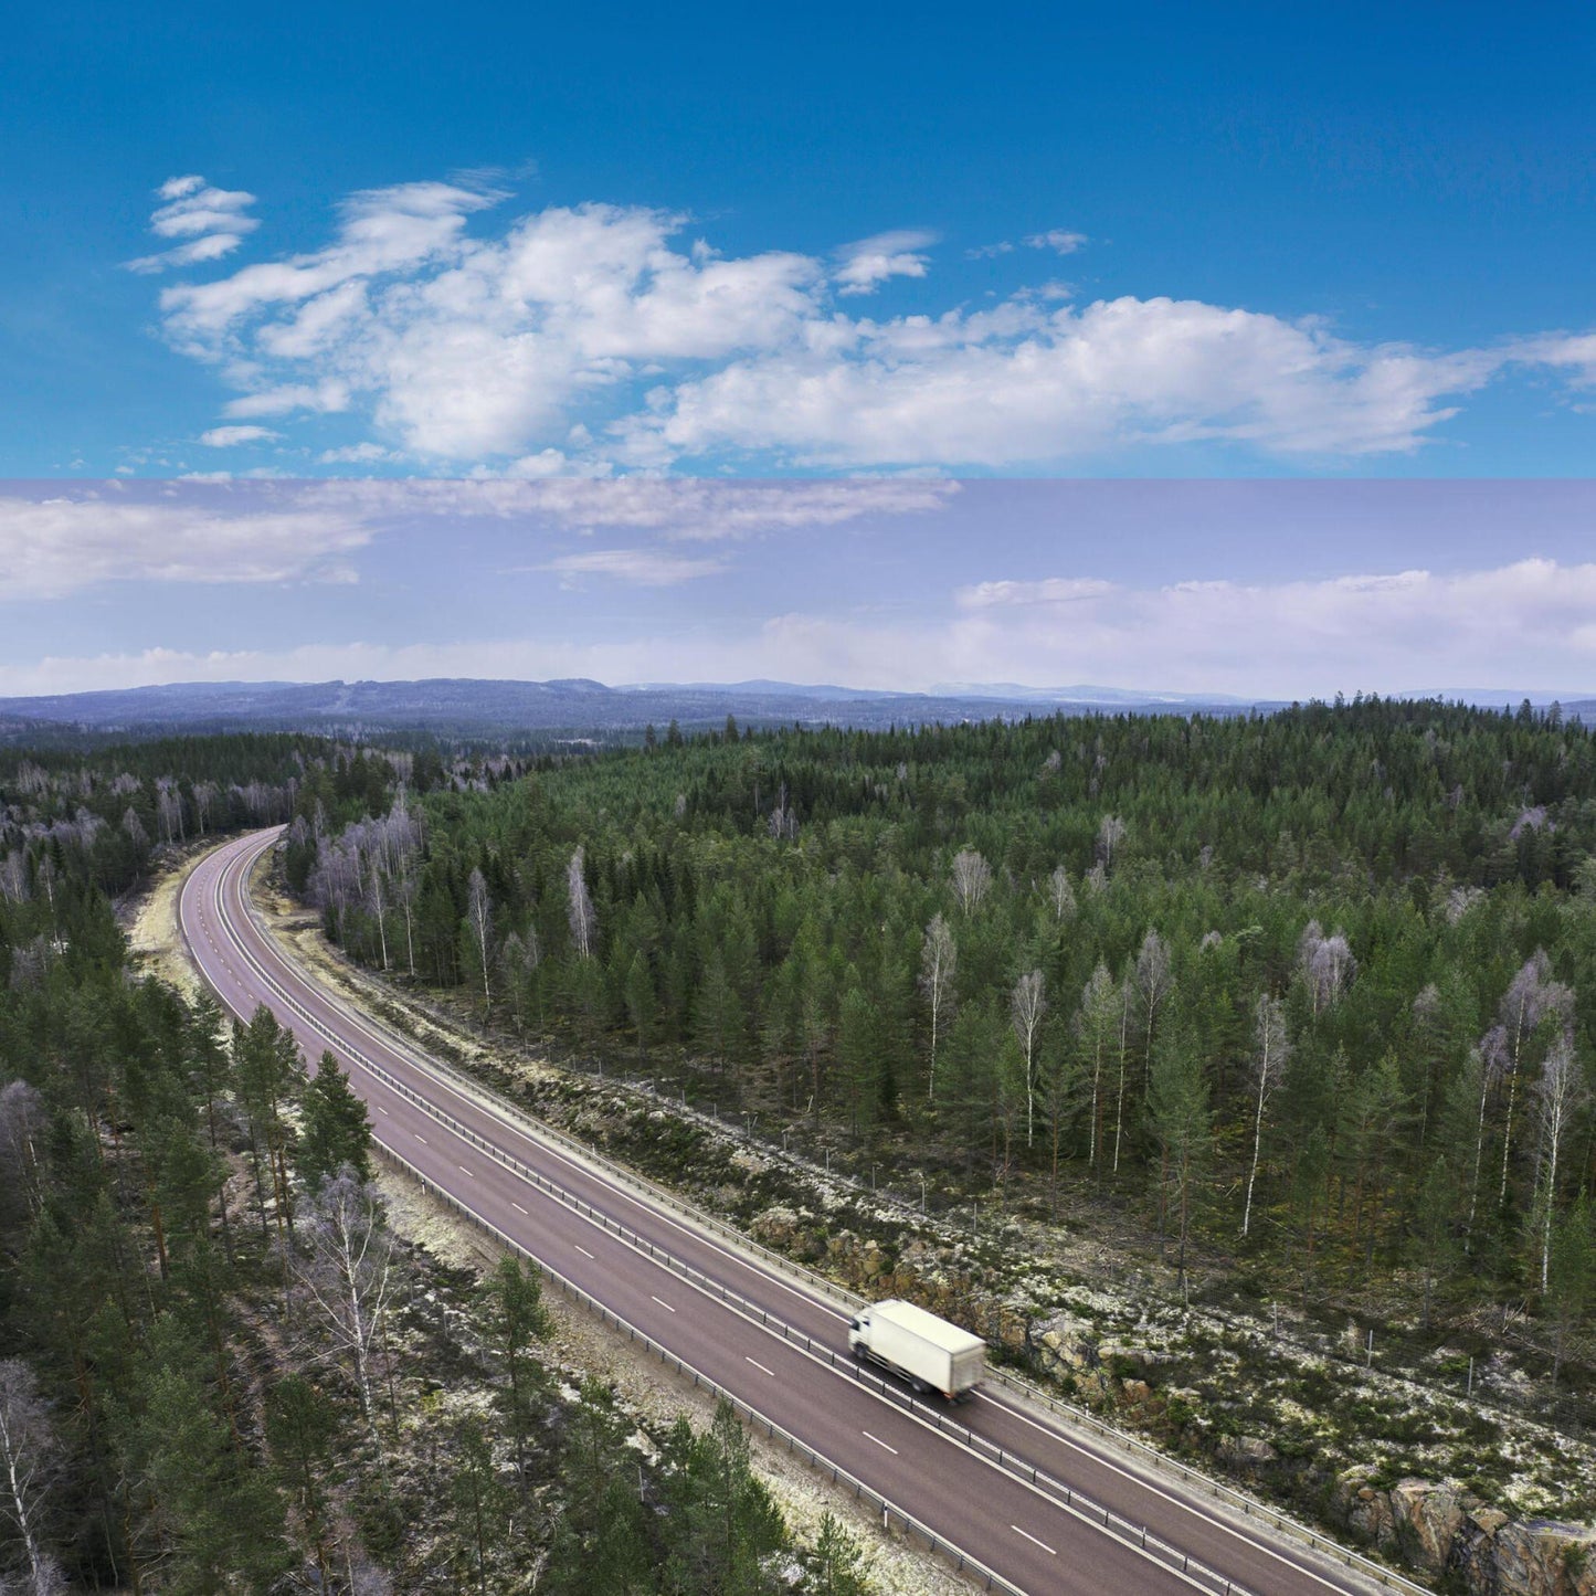
<svg viewBox="0 0 1596 1596">
<path fill-rule="evenodd" d="M 1259 1293 L 1588 1328 L 1596 750 L 1556 709 L 790 731 L 401 796 L 356 956 Z M 1184 1282 L 1183 1282 L 1184 1283 Z"/>
</svg>

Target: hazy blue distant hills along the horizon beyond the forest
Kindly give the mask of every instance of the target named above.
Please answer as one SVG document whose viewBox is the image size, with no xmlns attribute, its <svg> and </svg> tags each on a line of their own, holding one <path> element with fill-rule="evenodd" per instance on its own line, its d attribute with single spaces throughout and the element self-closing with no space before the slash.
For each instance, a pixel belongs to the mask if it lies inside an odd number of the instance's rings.
<svg viewBox="0 0 1596 1596">
<path fill-rule="evenodd" d="M 875 693 L 790 681 L 646 683 L 477 681 L 195 681 L 169 686 L 0 699 L 0 739 L 26 742 L 65 729 L 150 736 L 155 733 L 319 731 L 375 736 L 436 733 L 466 737 L 627 737 L 648 725 L 664 731 L 742 725 L 889 725 L 1018 720 L 1026 715 L 1101 710 L 1235 715 L 1282 707 L 1215 694 L 1136 694 L 1106 688 L 1047 691 L 1018 686 L 951 686 L 932 693 Z"/>
</svg>

